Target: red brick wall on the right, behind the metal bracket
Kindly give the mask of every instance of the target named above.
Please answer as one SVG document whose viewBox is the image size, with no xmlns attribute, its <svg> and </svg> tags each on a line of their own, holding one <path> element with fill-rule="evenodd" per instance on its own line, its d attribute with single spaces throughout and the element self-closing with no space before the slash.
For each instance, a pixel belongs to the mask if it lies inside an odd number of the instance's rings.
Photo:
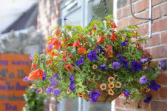
<svg viewBox="0 0 167 111">
<path fill-rule="evenodd" d="M 149 17 L 149 0 L 132 0 L 133 13 L 138 17 Z M 125 28 L 127 25 L 138 25 L 138 33 L 143 37 L 148 37 L 149 22 L 147 20 L 138 20 L 130 14 L 130 0 L 118 0 L 118 30 Z M 147 41 L 143 48 L 149 51 L 154 60 L 167 60 L 167 0 L 152 0 L 153 5 L 153 24 L 152 38 Z M 167 64 L 167 62 L 166 62 Z M 123 105 L 125 98 L 120 96 L 116 99 L 116 111 L 167 111 L 167 65 L 161 72 L 156 82 L 162 86 L 158 91 L 151 91 L 153 100 L 146 104 L 143 100 L 139 106 L 135 100 L 130 105 Z"/>
</svg>

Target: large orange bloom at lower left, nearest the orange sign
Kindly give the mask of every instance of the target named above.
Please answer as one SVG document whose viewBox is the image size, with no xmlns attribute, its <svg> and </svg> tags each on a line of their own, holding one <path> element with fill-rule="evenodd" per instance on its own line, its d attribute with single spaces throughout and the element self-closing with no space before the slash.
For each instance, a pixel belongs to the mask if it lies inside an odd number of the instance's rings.
<svg viewBox="0 0 167 111">
<path fill-rule="evenodd" d="M 43 71 L 41 69 L 37 69 L 37 70 L 31 72 L 28 76 L 28 79 L 31 81 L 34 79 L 38 80 L 39 78 L 41 80 L 43 79 Z"/>
</svg>

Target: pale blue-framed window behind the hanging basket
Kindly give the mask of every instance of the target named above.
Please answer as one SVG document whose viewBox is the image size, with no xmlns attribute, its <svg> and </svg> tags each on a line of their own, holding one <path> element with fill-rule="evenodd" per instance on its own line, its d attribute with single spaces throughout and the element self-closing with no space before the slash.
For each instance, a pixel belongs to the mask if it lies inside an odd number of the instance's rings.
<svg viewBox="0 0 167 111">
<path fill-rule="evenodd" d="M 64 0 L 60 4 L 60 25 L 86 26 L 101 0 Z M 113 14 L 113 0 L 106 0 L 107 14 Z M 68 20 L 64 21 L 64 17 Z M 99 5 L 93 20 L 105 17 L 103 3 Z M 58 111 L 111 111 L 111 103 L 92 103 L 81 98 L 63 99 L 58 103 Z"/>
</svg>

